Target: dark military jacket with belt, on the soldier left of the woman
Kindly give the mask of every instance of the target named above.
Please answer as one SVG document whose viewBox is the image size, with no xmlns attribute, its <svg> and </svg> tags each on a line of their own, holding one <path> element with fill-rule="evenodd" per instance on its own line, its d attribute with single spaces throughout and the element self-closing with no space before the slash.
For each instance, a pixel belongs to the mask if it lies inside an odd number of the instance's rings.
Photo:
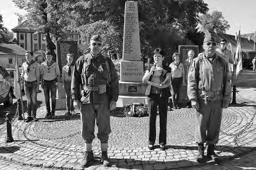
<svg viewBox="0 0 256 170">
<path fill-rule="evenodd" d="M 119 82 L 116 73 L 116 68 L 109 57 L 100 54 L 93 57 L 91 53 L 81 56 L 75 63 L 74 73 L 71 81 L 72 100 L 80 100 L 84 86 L 97 87 L 108 83 L 108 69 L 106 66 L 107 60 L 109 65 L 110 80 L 109 88 L 106 93 L 99 94 L 97 91 L 84 91 L 82 96 L 85 97 L 83 103 L 106 103 L 111 100 L 117 101 L 119 95 Z M 82 87 L 82 89 L 80 89 Z"/>
</svg>

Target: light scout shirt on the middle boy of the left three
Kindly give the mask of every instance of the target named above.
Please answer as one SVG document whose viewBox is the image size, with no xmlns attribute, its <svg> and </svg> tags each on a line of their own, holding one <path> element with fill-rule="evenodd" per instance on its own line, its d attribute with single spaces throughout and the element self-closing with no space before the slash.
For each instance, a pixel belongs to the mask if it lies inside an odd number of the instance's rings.
<svg viewBox="0 0 256 170">
<path fill-rule="evenodd" d="M 57 76 L 60 76 L 60 69 L 59 65 L 55 62 L 51 66 L 47 66 L 46 61 L 41 64 L 40 67 L 41 75 L 43 76 L 43 79 L 46 81 L 51 81 L 57 78 Z"/>
</svg>

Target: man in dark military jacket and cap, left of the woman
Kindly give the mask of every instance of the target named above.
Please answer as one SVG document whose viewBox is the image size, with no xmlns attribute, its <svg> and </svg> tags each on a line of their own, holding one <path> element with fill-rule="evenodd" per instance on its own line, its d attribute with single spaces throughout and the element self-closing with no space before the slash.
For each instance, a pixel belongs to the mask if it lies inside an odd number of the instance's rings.
<svg viewBox="0 0 256 170">
<path fill-rule="evenodd" d="M 102 42 L 99 35 L 91 38 L 89 46 L 91 51 L 76 61 L 71 81 L 72 99 L 74 107 L 80 108 L 81 133 L 85 141 L 85 156 L 81 166 L 87 167 L 93 161 L 95 118 L 99 129 L 97 137 L 101 141 L 101 159 L 104 166 L 109 166 L 107 151 L 111 132 L 110 110 L 116 108 L 118 100 L 118 77 L 112 60 L 101 54 Z"/>
</svg>

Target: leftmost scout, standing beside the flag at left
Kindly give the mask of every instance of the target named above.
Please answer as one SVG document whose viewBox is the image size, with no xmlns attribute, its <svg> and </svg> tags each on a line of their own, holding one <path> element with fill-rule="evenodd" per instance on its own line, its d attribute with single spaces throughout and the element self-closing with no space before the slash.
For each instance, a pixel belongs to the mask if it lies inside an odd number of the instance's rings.
<svg viewBox="0 0 256 170">
<path fill-rule="evenodd" d="M 27 97 L 26 122 L 38 121 L 36 118 L 36 97 L 39 92 L 40 65 L 32 59 L 32 51 L 26 51 L 25 56 L 26 62 L 22 64 L 21 77 L 24 78 L 24 90 Z M 31 117 L 31 111 L 33 118 Z"/>
</svg>

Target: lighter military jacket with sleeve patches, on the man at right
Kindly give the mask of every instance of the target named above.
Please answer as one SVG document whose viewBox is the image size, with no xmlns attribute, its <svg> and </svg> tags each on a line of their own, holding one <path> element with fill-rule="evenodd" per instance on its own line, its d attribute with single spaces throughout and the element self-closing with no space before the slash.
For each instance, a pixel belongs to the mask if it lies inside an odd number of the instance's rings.
<svg viewBox="0 0 256 170">
<path fill-rule="evenodd" d="M 198 54 L 189 67 L 187 88 L 190 101 L 198 101 L 199 98 L 207 95 L 214 100 L 230 102 L 231 84 L 227 62 L 217 55 L 213 61 L 210 61 L 204 53 Z"/>
</svg>

